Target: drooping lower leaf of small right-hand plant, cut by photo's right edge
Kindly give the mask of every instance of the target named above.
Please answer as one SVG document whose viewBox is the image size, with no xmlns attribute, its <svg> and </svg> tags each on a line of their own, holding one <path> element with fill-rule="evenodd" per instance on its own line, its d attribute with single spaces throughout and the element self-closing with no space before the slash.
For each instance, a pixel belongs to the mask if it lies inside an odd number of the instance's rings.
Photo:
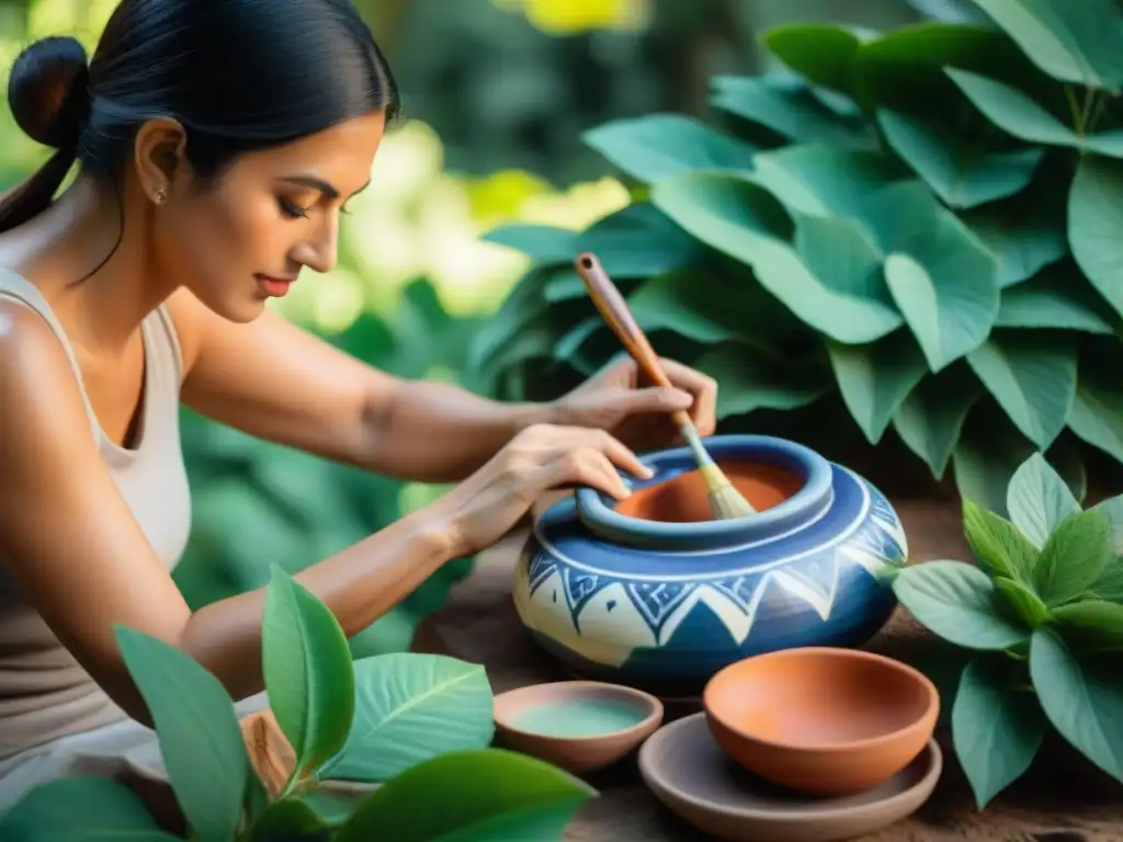
<svg viewBox="0 0 1123 842">
<path fill-rule="evenodd" d="M 1077 660 L 1046 626 L 1033 632 L 1030 676 L 1041 707 L 1071 745 L 1123 781 L 1123 688 L 1119 656 Z"/>
</svg>

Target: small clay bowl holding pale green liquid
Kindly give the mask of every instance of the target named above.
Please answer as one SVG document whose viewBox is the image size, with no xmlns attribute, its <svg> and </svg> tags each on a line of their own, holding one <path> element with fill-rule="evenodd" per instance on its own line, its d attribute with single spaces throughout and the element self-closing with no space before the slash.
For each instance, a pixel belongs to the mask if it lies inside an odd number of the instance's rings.
<svg viewBox="0 0 1123 842">
<path fill-rule="evenodd" d="M 663 723 L 655 696 L 602 681 L 553 681 L 495 696 L 495 742 L 569 772 L 622 759 Z"/>
</svg>

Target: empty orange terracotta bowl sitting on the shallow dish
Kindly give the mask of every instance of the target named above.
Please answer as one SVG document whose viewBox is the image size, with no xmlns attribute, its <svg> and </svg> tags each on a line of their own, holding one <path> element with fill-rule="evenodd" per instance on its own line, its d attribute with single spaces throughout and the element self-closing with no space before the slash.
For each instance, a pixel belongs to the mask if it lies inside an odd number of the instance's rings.
<svg viewBox="0 0 1123 842">
<path fill-rule="evenodd" d="M 924 750 L 940 712 L 935 686 L 912 667 L 833 647 L 731 663 L 710 679 L 702 702 L 729 757 L 816 796 L 888 780 Z"/>
</svg>

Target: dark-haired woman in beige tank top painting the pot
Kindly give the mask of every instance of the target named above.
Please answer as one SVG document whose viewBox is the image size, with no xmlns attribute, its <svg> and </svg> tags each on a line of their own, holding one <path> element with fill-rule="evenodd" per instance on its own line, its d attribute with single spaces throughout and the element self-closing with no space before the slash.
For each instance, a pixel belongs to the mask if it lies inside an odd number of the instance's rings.
<svg viewBox="0 0 1123 842">
<path fill-rule="evenodd" d="M 499 404 L 395 379 L 266 308 L 335 264 L 398 111 L 348 0 L 124 0 L 89 65 L 73 39 L 34 44 L 9 99 L 57 152 L 0 203 L 0 809 L 150 738 L 116 624 L 182 648 L 239 710 L 262 703 L 263 591 L 192 613 L 170 576 L 190 525 L 181 400 L 458 483 L 298 577 L 348 635 L 544 492 L 627 496 L 618 472 L 645 474 L 634 448 L 669 442 L 668 411 L 713 429 L 713 382 L 673 363 L 674 390 L 636 388 L 622 363 L 554 403 Z M 651 421 L 661 438 L 636 438 Z"/>
</svg>

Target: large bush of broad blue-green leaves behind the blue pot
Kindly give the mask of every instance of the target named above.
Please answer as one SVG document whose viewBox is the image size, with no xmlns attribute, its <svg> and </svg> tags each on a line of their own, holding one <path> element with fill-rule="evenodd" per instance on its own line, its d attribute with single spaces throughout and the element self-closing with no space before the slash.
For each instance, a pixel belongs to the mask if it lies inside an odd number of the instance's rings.
<svg viewBox="0 0 1123 842">
<path fill-rule="evenodd" d="M 921 6 L 958 22 L 783 26 L 787 70 L 714 77 L 718 120 L 588 131 L 634 201 L 486 236 L 535 258 L 476 338 L 495 393 L 550 396 L 618 350 L 570 268 L 593 249 L 656 347 L 720 381 L 727 425 L 810 410 L 829 441 L 837 405 L 999 513 L 1031 452 L 1077 498 L 1078 451 L 1123 463 L 1123 11 Z"/>
</svg>

